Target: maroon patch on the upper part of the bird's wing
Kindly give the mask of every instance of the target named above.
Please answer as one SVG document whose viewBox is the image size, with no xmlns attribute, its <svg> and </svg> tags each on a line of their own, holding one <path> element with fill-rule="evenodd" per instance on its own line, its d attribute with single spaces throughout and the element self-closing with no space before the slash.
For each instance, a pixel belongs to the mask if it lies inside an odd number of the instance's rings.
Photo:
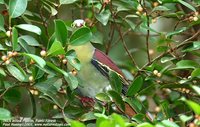
<svg viewBox="0 0 200 127">
<path fill-rule="evenodd" d="M 94 59 L 96 59 L 97 61 L 99 61 L 103 65 L 108 66 L 110 69 L 112 69 L 113 71 L 117 72 L 118 74 L 120 74 L 121 76 L 124 77 L 124 74 L 117 67 L 117 65 L 106 54 L 104 54 L 102 51 L 100 51 L 98 49 L 95 49 L 95 51 L 94 51 Z"/>
</svg>

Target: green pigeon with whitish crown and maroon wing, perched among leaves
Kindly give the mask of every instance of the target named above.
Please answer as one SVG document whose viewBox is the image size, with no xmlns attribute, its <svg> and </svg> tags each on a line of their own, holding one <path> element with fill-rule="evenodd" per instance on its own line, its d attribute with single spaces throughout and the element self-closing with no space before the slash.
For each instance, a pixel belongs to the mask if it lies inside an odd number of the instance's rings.
<svg viewBox="0 0 200 127">
<path fill-rule="evenodd" d="M 84 27 L 84 20 L 75 20 L 73 27 Z M 77 72 L 80 79 L 79 91 L 82 95 L 95 98 L 98 93 L 111 90 L 109 73 L 116 73 L 123 84 L 122 94 L 125 95 L 129 82 L 119 67 L 104 52 L 95 48 L 90 42 L 78 46 L 68 46 L 76 52 L 77 58 L 81 63 L 81 69 Z M 88 100 L 88 99 L 86 99 Z M 132 117 L 136 111 L 128 104 L 125 104 L 125 114 Z"/>
</svg>

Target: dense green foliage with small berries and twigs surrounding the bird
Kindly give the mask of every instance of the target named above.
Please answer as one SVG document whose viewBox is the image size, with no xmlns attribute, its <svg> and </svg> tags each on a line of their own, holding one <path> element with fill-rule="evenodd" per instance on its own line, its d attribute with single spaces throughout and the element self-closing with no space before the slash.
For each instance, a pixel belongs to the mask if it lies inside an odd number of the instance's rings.
<svg viewBox="0 0 200 127">
<path fill-rule="evenodd" d="M 199 126 L 199 4 L 0 0 L 0 120 L 28 116 L 72 127 Z M 75 28 L 72 22 L 80 18 L 86 24 Z M 88 42 L 113 58 L 130 86 L 121 96 L 120 78 L 111 73 L 112 90 L 85 108 L 77 92 L 81 63 L 68 46 Z M 128 117 L 126 104 L 137 114 Z"/>
</svg>

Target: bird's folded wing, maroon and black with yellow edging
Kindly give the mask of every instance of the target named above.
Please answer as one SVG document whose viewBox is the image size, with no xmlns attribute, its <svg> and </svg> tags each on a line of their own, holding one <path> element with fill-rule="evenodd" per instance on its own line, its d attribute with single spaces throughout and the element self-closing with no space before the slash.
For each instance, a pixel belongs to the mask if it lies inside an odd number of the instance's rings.
<svg viewBox="0 0 200 127">
<path fill-rule="evenodd" d="M 95 49 L 91 63 L 107 78 L 109 78 L 110 71 L 116 72 L 121 78 L 123 84 L 122 93 L 125 94 L 127 92 L 128 82 L 126 81 L 124 74 L 106 54 Z"/>
</svg>

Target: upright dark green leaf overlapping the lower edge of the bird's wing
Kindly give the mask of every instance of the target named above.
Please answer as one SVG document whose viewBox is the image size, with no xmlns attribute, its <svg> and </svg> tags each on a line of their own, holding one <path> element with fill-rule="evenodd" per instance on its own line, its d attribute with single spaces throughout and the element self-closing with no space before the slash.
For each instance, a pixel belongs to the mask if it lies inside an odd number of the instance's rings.
<svg viewBox="0 0 200 127">
<path fill-rule="evenodd" d="M 120 77 L 114 71 L 110 71 L 109 80 L 110 80 L 112 89 L 118 93 L 121 93 L 122 92 L 122 82 L 121 82 Z"/>
</svg>

